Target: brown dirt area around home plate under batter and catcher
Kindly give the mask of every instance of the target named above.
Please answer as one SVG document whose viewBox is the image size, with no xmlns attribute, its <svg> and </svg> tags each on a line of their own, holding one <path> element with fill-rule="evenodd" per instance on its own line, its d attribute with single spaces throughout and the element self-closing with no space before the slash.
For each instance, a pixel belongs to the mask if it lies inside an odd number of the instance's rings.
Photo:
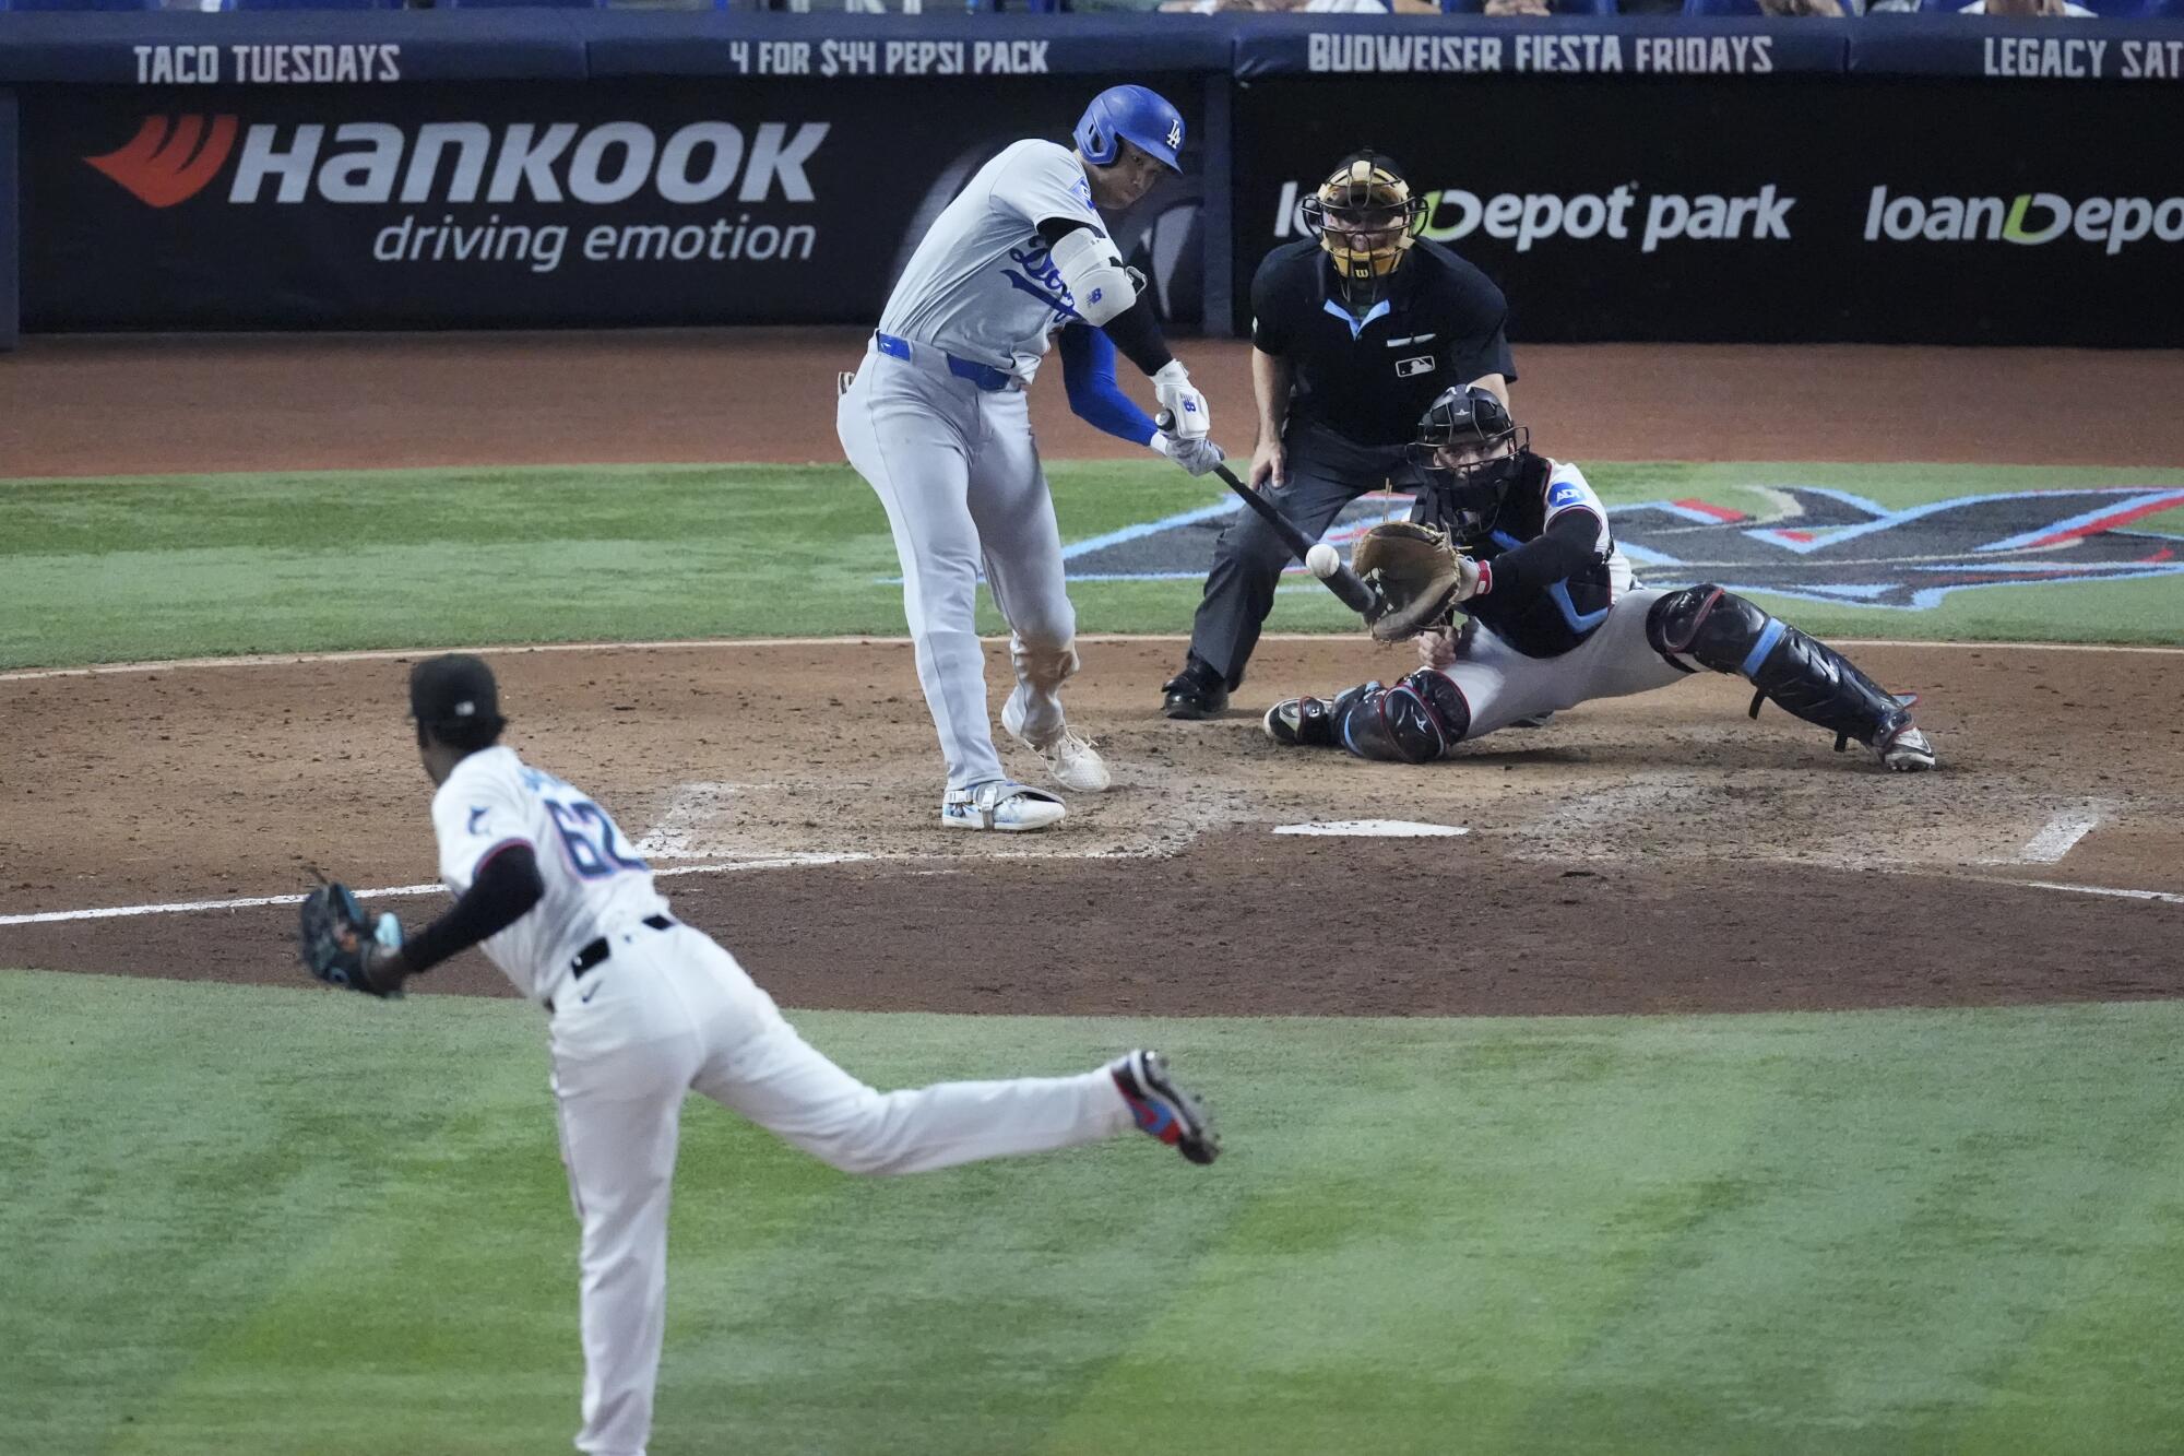
<svg viewBox="0 0 2184 1456">
<path fill-rule="evenodd" d="M 1393 1014 L 2184 995 L 2184 905 L 2014 883 L 2175 888 L 2184 654 L 1867 647 L 1885 680 L 1928 695 L 1948 756 L 1944 774 L 1891 776 L 1795 719 L 1747 721 L 1725 678 L 1588 704 L 1431 770 L 1299 754 L 1243 711 L 1160 719 L 1175 651 L 1088 645 L 1072 706 L 1116 789 L 1079 798 L 1061 833 L 1022 837 L 937 826 L 906 645 L 496 660 L 511 741 L 603 798 L 655 868 L 854 857 L 662 881 L 795 1006 Z M 1326 691 L 1387 662 L 1369 643 L 1269 643 L 1254 686 Z M 402 658 L 367 658 L 0 682 L 7 721 L 33 726 L 24 772 L 0 783 L 0 914 L 280 894 L 308 883 L 306 864 L 358 885 L 430 881 L 404 680 Z M 1352 818 L 1470 833 L 1271 833 Z M 2062 861 L 2027 859 L 2051 826 L 2088 820 Z M 0 964 L 293 982 L 290 923 L 275 905 L 9 925 Z M 435 986 L 502 988 L 474 955 Z"/>
</svg>

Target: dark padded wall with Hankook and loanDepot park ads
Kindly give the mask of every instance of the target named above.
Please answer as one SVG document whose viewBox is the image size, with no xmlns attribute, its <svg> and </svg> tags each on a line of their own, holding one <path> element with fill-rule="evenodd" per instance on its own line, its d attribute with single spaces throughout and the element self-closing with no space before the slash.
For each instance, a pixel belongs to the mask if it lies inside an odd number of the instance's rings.
<svg viewBox="0 0 2184 1456">
<path fill-rule="evenodd" d="M 2184 22 L 1957 15 L 0 13 L 0 341 L 17 262 L 26 330 L 869 324 L 1142 81 L 1184 332 L 1374 144 L 1524 341 L 2177 345 L 2180 74 Z"/>
</svg>

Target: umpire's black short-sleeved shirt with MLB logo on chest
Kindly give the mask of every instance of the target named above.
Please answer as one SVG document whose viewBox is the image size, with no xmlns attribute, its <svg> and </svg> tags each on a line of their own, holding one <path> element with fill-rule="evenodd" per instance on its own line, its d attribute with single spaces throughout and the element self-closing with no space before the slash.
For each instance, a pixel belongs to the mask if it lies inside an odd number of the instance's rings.
<svg viewBox="0 0 2184 1456">
<path fill-rule="evenodd" d="M 1503 295 L 1446 247 L 1417 243 L 1389 295 L 1363 315 L 1341 302 L 1319 243 L 1289 243 L 1251 280 L 1251 343 L 1295 376 L 1293 420 L 1361 446 L 1400 446 L 1452 383 L 1516 378 Z"/>
</svg>

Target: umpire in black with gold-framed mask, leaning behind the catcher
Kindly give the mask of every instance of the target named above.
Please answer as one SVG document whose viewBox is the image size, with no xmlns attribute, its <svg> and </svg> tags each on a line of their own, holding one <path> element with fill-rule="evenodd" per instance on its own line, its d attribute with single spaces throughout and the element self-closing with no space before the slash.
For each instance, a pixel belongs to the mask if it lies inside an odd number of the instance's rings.
<svg viewBox="0 0 2184 1456">
<path fill-rule="evenodd" d="M 1304 223 L 1317 240 L 1284 243 L 1251 280 L 1251 485 L 1271 481 L 1269 498 L 1317 538 L 1361 494 L 1417 483 L 1404 446 L 1435 396 L 1476 383 L 1507 402 L 1516 369 L 1500 289 L 1420 240 L 1426 203 L 1389 157 L 1343 157 L 1304 199 Z M 1160 689 L 1162 713 L 1227 706 L 1286 564 L 1289 544 L 1238 512 L 1214 547 L 1190 656 Z"/>
</svg>

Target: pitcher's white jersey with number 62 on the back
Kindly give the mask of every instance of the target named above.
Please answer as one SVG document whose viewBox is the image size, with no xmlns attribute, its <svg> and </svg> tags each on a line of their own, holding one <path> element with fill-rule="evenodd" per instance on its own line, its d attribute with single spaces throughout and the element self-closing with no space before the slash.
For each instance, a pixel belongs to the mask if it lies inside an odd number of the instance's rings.
<svg viewBox="0 0 2184 1456">
<path fill-rule="evenodd" d="M 609 929 L 662 916 L 666 899 L 622 831 L 583 789 L 487 748 L 454 765 L 432 796 L 439 877 L 456 896 L 505 848 L 526 844 L 546 894 L 483 942 L 485 955 L 533 1001 L 548 1001 L 577 951 Z"/>
</svg>

